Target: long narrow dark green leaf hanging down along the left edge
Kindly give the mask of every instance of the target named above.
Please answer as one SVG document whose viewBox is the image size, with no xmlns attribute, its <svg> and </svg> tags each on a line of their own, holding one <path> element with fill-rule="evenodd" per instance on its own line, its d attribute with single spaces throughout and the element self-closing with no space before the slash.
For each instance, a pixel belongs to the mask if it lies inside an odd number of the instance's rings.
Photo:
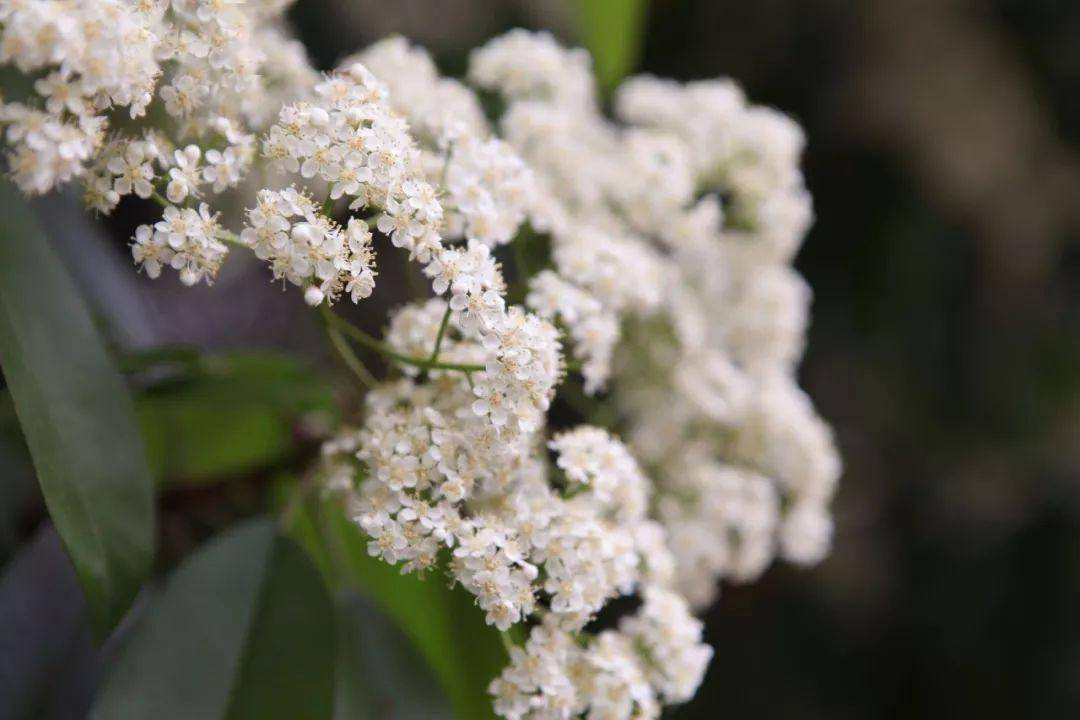
<svg viewBox="0 0 1080 720">
<path fill-rule="evenodd" d="M 153 481 L 127 389 L 29 208 L 0 182 L 0 365 L 103 637 L 153 557 Z"/>
</svg>

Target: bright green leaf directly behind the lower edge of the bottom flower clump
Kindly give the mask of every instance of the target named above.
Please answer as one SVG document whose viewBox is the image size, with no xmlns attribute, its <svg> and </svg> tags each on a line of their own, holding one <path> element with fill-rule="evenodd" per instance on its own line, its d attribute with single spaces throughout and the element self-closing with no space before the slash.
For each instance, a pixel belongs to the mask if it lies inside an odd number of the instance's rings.
<svg viewBox="0 0 1080 720">
<path fill-rule="evenodd" d="M 502 640 L 473 598 L 446 578 L 421 580 L 372 558 L 367 539 L 334 502 L 296 514 L 294 536 L 329 565 L 330 582 L 353 587 L 389 615 L 427 661 L 463 719 L 491 718 L 487 687 L 507 663 Z"/>
</svg>

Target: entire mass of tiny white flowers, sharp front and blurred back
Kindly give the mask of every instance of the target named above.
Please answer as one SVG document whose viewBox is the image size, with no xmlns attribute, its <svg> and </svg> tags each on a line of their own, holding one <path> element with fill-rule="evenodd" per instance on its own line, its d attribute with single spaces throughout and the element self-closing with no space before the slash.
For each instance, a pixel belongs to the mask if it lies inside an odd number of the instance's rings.
<svg viewBox="0 0 1080 720">
<path fill-rule="evenodd" d="M 660 717 L 701 681 L 691 611 L 720 581 L 831 542 L 840 461 L 795 376 L 798 125 L 730 81 L 649 77 L 608 118 L 589 55 L 523 30 L 465 80 L 401 38 L 320 76 L 287 4 L 0 0 L 0 63 L 36 80 L 0 104 L 15 181 L 158 202 L 131 245 L 151 277 L 213 282 L 233 246 L 322 307 L 372 388 L 320 472 L 373 556 L 528 627 L 490 684 L 501 716 Z M 431 286 L 382 339 L 346 328 L 381 381 L 329 309 L 374 293 L 376 237 Z M 535 274 L 505 247 L 523 237 Z M 638 609 L 602 614 L 622 596 Z"/>
</svg>

